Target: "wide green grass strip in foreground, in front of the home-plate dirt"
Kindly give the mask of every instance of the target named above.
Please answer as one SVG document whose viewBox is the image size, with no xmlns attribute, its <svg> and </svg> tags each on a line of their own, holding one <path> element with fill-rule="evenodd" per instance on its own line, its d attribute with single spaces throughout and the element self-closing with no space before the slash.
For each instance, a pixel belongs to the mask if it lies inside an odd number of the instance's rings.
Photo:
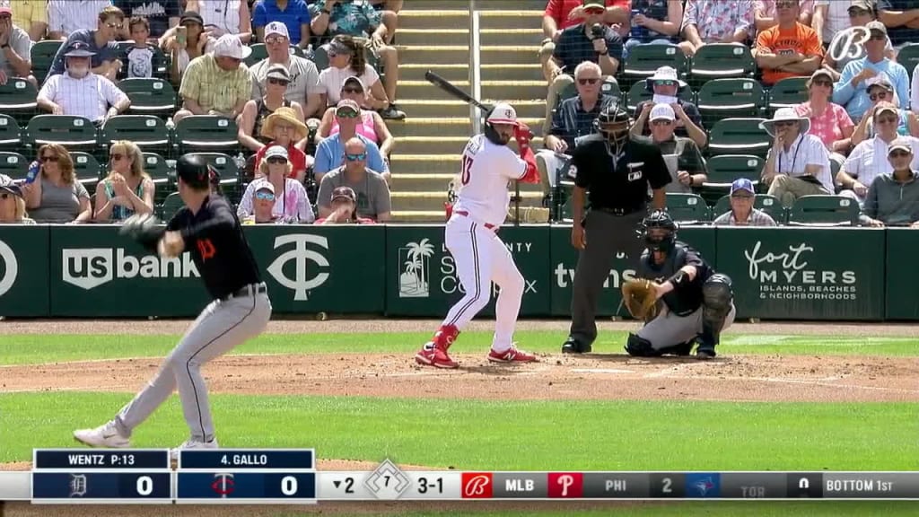
<svg viewBox="0 0 919 517">
<path fill-rule="evenodd" d="M 76 446 L 130 394 L 0 395 L 0 462 Z M 476 402 L 213 396 L 224 447 L 315 447 L 321 458 L 485 470 L 916 470 L 917 404 Z M 14 423 L 15 425 L 10 425 Z M 134 445 L 187 436 L 173 397 Z M 424 446 L 434 444 L 434 446 Z M 511 446 L 513 445 L 513 446 Z"/>
</svg>

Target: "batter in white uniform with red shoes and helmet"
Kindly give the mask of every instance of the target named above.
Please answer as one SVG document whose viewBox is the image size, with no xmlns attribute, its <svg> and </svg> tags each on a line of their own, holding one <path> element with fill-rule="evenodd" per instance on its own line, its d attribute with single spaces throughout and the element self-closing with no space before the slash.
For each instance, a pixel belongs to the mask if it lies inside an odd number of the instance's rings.
<svg viewBox="0 0 919 517">
<path fill-rule="evenodd" d="M 447 350 L 491 299 L 492 282 L 501 288 L 495 303 L 494 341 L 488 360 L 534 362 L 536 357 L 514 347 L 514 327 L 523 298 L 523 275 L 497 236 L 510 204 L 510 181 L 539 183 L 536 158 L 529 147 L 532 133 L 516 120 L 511 105 L 498 103 L 485 119 L 485 130 L 473 136 L 462 154 L 457 201 L 448 208 L 444 240 L 456 263 L 466 294 L 414 356 L 415 362 L 437 368 L 456 368 Z M 507 147 L 516 139 L 520 155 Z"/>
</svg>

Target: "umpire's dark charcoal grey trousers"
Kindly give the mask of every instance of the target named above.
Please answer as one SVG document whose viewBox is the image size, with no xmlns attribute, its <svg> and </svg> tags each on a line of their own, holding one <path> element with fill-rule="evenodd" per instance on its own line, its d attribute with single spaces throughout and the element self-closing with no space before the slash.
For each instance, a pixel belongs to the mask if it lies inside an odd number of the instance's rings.
<svg viewBox="0 0 919 517">
<path fill-rule="evenodd" d="M 574 270 L 572 326 L 568 333 L 578 343 L 591 345 L 596 339 L 596 300 L 617 254 L 624 253 L 628 268 L 637 270 L 644 243 L 636 231 L 645 215 L 643 210 L 621 216 L 597 210 L 587 213 L 584 225 L 587 247 L 580 251 Z"/>
</svg>

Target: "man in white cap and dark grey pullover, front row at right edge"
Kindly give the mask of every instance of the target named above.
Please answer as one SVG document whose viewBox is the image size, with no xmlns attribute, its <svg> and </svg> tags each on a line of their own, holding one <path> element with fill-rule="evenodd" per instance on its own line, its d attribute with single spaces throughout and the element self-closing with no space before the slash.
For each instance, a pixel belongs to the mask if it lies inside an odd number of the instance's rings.
<svg viewBox="0 0 919 517">
<path fill-rule="evenodd" d="M 915 157 L 913 142 L 902 137 L 891 142 L 887 148 L 891 172 L 875 178 L 868 188 L 861 224 L 919 228 L 919 169 L 915 167 Z"/>
</svg>

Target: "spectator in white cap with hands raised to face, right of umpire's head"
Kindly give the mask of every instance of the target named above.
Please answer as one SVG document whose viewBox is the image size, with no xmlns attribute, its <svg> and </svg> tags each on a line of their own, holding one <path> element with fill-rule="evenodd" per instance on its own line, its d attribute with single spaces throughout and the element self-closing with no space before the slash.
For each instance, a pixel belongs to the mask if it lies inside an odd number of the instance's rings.
<svg viewBox="0 0 919 517">
<path fill-rule="evenodd" d="M 637 134 L 645 136 L 651 134 L 651 126 L 647 123 L 648 113 L 656 104 L 669 104 L 676 114 L 677 136 L 692 139 L 699 148 L 709 143 L 709 135 L 702 126 L 702 114 L 698 112 L 696 105 L 677 97 L 687 85 L 686 81 L 679 78 L 673 66 L 661 66 L 655 70 L 654 75 L 645 79 L 644 87 L 651 91 L 653 96 L 639 102 L 632 114 L 635 120 L 641 119 L 641 114 L 644 114 L 643 122 L 636 123 L 636 126 L 632 128 L 638 131 Z"/>
</svg>

